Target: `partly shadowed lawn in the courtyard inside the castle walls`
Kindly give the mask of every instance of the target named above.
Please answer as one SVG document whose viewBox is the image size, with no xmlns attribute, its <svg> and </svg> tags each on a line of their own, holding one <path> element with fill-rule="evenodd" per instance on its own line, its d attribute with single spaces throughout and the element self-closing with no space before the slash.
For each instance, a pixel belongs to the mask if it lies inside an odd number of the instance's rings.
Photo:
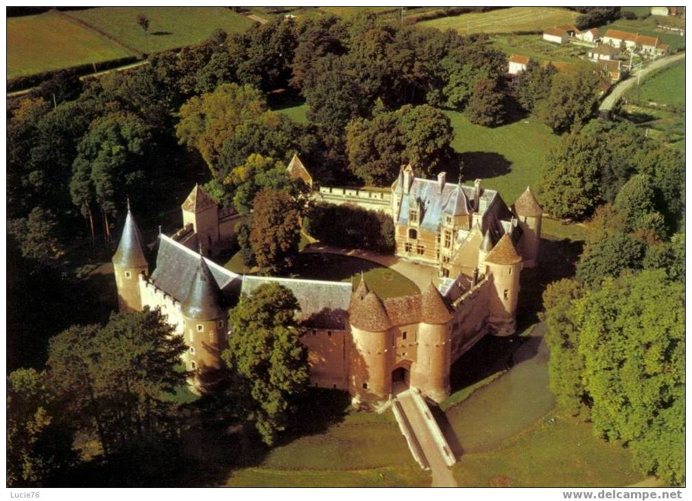
<svg viewBox="0 0 692 501">
<path fill-rule="evenodd" d="M 224 267 L 234 273 L 252 271 L 244 267 L 239 252 L 234 254 Z M 367 285 L 380 297 L 398 297 L 420 292 L 415 283 L 399 272 L 372 261 L 338 254 L 300 254 L 291 277 L 357 283 L 361 272 L 365 274 Z"/>
</svg>

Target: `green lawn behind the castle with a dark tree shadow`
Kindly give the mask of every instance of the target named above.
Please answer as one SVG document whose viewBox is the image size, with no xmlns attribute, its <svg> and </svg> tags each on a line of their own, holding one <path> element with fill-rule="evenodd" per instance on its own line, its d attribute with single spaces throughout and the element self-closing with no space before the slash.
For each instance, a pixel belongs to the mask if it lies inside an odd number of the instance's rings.
<svg viewBox="0 0 692 501">
<path fill-rule="evenodd" d="M 545 154 L 558 137 L 535 116 L 508 125 L 473 125 L 464 114 L 446 111 L 455 132 L 452 147 L 461 153 L 464 182 L 482 179 L 482 185 L 500 191 L 512 204 L 527 186 L 536 188 Z M 456 177 L 456 173 L 448 172 Z"/>
</svg>

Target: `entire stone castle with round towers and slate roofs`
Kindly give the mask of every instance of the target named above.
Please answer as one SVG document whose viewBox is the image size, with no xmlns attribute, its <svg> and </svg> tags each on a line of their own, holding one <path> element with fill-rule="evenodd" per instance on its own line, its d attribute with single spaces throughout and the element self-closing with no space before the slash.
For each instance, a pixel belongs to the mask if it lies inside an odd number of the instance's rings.
<svg viewBox="0 0 692 501">
<path fill-rule="evenodd" d="M 295 157 L 297 159 L 297 157 Z M 307 169 L 292 162 L 292 175 Z M 311 385 L 343 389 L 354 403 L 378 405 L 394 387 L 416 387 L 441 401 L 450 367 L 484 335 L 516 331 L 519 277 L 538 264 L 543 211 L 529 188 L 510 209 L 500 194 L 415 176 L 402 168 L 390 188 L 396 254 L 439 267 L 439 282 L 415 295 L 381 298 L 361 277 L 351 283 L 239 275 L 204 254 L 227 242 L 224 211 L 195 186 L 182 205 L 183 228 L 159 234 L 150 267 L 134 216 L 127 210 L 113 256 L 121 311 L 161 308 L 188 345 L 183 355 L 197 392 L 224 378 L 221 353 L 233 333 L 228 310 L 260 285 L 289 288 L 300 305 Z M 211 240 L 210 240 L 211 237 Z"/>
</svg>

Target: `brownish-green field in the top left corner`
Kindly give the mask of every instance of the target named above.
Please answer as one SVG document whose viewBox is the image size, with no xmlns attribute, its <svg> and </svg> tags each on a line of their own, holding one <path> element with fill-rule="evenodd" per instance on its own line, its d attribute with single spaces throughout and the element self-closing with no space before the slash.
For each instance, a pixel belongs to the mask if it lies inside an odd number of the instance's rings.
<svg viewBox="0 0 692 501">
<path fill-rule="evenodd" d="M 7 78 L 131 55 L 57 12 L 8 17 Z"/>
</svg>

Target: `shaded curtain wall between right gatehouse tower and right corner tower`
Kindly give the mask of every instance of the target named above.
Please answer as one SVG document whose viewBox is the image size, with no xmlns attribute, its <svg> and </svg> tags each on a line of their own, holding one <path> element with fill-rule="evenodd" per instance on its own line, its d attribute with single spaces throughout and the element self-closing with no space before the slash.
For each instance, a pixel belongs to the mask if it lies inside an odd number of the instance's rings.
<svg viewBox="0 0 692 501">
<path fill-rule="evenodd" d="M 453 364 L 487 331 L 491 283 L 484 279 L 454 304 L 450 336 L 450 364 Z"/>
</svg>

